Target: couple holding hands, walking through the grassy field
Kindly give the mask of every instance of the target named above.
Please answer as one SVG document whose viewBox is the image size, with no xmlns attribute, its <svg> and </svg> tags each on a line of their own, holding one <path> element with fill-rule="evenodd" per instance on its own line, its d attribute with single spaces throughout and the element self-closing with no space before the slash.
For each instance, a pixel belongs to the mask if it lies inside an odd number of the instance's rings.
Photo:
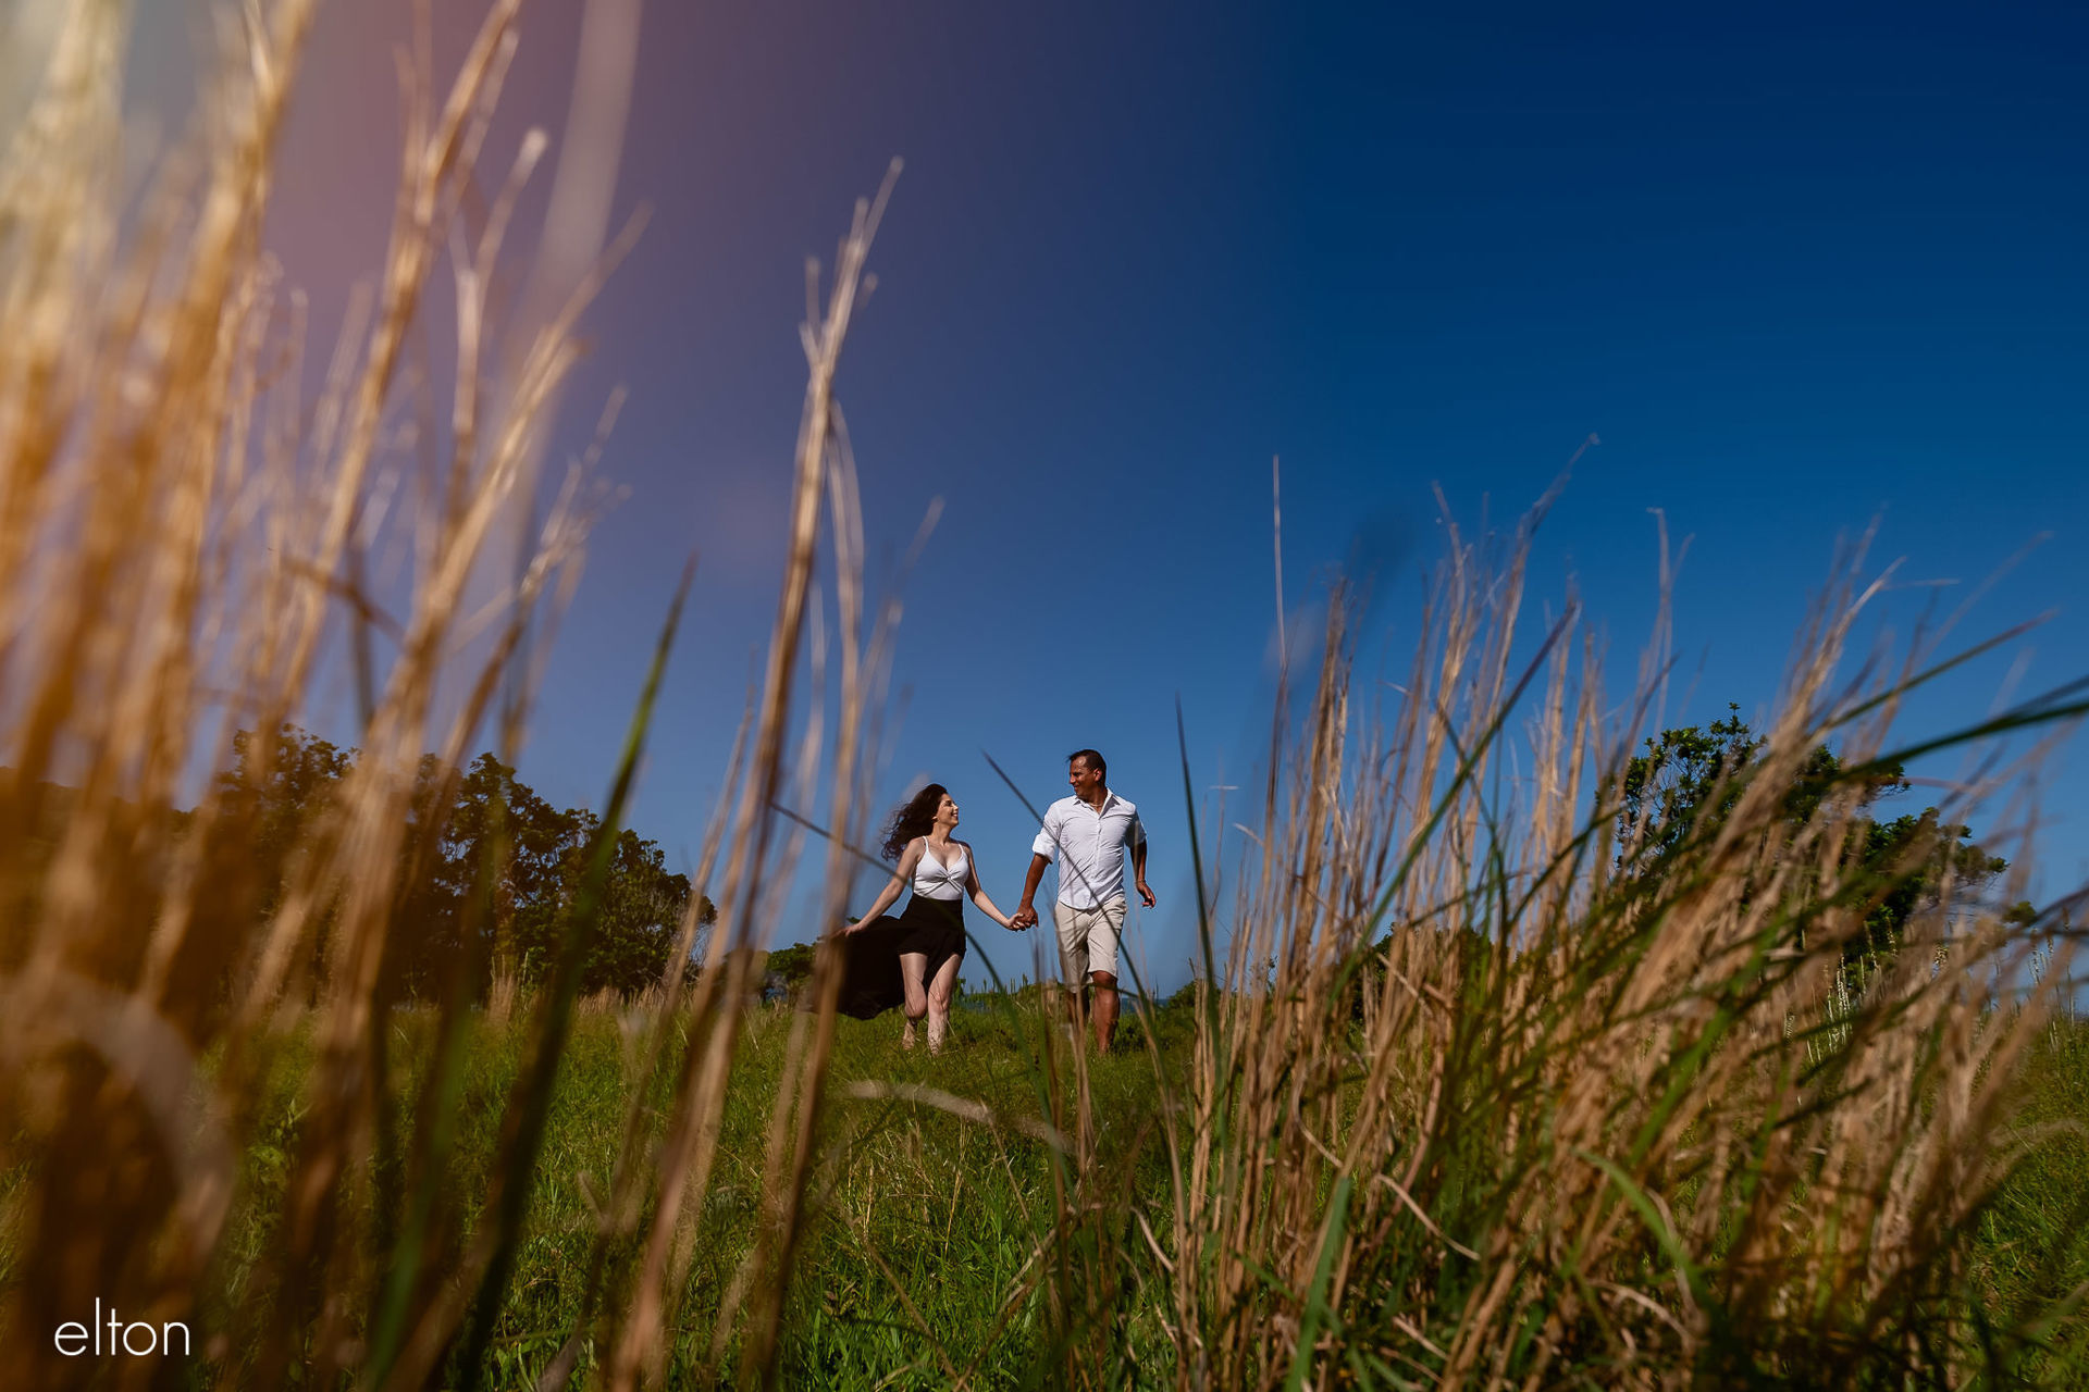
<svg viewBox="0 0 2089 1392">
<path fill-rule="evenodd" d="M 1067 1014 L 1080 1029 L 1095 1027 L 1095 1048 L 1107 1052 L 1118 1027 L 1118 939 L 1124 933 L 1124 860 L 1132 862 L 1139 902 L 1153 906 L 1147 889 L 1147 833 L 1139 808 L 1109 791 L 1109 766 L 1095 749 L 1067 755 L 1072 797 L 1044 810 L 1044 824 L 1030 845 L 1030 874 L 1024 899 L 1003 914 L 980 889 L 971 847 L 957 831 L 957 799 L 940 783 L 915 793 L 886 826 L 884 854 L 896 862 L 892 879 L 869 912 L 844 929 L 842 1010 L 869 1018 L 900 1006 L 907 1029 L 900 1043 L 913 1048 L 915 1021 L 928 1018 L 928 1048 L 940 1054 L 950 1031 L 950 995 L 957 964 L 965 958 L 965 910 L 969 897 L 1001 927 L 1022 933 L 1036 925 L 1032 899 L 1044 866 L 1059 864 L 1059 897 L 1053 927 L 1059 937 L 1059 979 L 1067 989 Z M 905 889 L 913 889 L 907 912 L 886 916 Z M 1093 989 L 1093 1008 L 1082 991 Z"/>
</svg>

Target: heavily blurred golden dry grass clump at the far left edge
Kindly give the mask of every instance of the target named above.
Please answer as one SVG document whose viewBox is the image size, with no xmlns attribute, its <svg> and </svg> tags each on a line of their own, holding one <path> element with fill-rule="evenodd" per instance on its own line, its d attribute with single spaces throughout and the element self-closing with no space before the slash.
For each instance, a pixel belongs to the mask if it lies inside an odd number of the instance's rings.
<svg viewBox="0 0 2089 1392">
<path fill-rule="evenodd" d="M 606 269 L 539 328 L 487 413 L 487 282 L 541 136 L 524 142 L 476 236 L 462 234 L 460 196 L 514 52 L 516 8 L 491 8 L 439 109 L 432 75 L 409 73 L 409 148 L 380 292 L 368 315 L 351 313 L 303 438 L 303 305 L 282 305 L 257 232 L 309 2 L 217 10 L 221 52 L 196 129 L 130 225 L 113 182 L 119 6 L 71 8 L 46 92 L 8 152 L 0 718 L 13 774 L 0 797 L 10 925 L 0 970 L 10 995 L 77 1006 L 8 1012 L 0 1025 L 8 1073 L 27 1083 L 0 1106 L 17 1117 L 46 1077 L 69 1098 L 25 1133 L 42 1213 L 25 1265 L 58 1279 L 17 1292 L 10 1327 L 52 1327 L 56 1311 L 96 1296 L 190 1315 L 232 1198 L 228 1154 L 247 1142 L 278 1025 L 313 998 L 320 1062 L 269 1256 L 280 1317 L 251 1317 L 253 1375 L 265 1386 L 305 1363 L 326 1379 L 355 1357 L 389 1014 L 380 977 L 399 866 L 412 864 L 416 770 L 430 745 L 451 770 L 468 753 L 529 616 L 570 578 L 593 507 L 568 480 L 516 584 L 470 620 L 480 630 L 491 620 L 491 639 L 464 655 L 466 580 L 518 488 L 574 361 L 574 319 Z M 257 866 L 251 806 L 224 791 L 188 818 L 171 806 L 198 760 L 224 766 L 240 728 L 257 733 L 253 770 L 265 783 L 274 733 L 307 705 L 336 614 L 366 628 L 380 611 L 353 561 L 384 526 L 372 467 L 401 344 L 445 240 L 460 288 L 449 457 L 430 490 L 445 505 L 397 524 L 418 536 L 420 563 L 391 597 L 403 603 L 399 653 L 366 701 L 361 758 L 288 862 Z M 447 728 L 437 730 L 443 691 Z M 205 1052 L 221 1054 L 209 1077 L 192 1064 Z M 63 1375 L 63 1365 L 27 1373 L 46 1386 Z"/>
</svg>

